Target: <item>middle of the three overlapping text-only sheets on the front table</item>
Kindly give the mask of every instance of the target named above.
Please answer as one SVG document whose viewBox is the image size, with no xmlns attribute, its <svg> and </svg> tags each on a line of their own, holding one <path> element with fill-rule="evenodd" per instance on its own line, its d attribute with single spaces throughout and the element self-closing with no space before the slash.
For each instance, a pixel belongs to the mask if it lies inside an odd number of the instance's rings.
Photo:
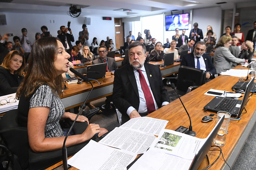
<svg viewBox="0 0 256 170">
<path fill-rule="evenodd" d="M 99 143 L 127 150 L 135 154 L 141 154 L 150 147 L 154 139 L 156 139 L 156 136 L 152 134 L 116 127 L 100 140 Z"/>
</svg>

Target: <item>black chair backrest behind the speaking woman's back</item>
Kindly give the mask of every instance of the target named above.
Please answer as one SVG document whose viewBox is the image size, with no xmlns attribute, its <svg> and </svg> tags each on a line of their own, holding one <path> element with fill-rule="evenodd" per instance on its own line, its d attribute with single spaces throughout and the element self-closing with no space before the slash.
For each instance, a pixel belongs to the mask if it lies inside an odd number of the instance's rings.
<svg viewBox="0 0 256 170">
<path fill-rule="evenodd" d="M 28 165 L 28 130 L 17 121 L 18 110 L 10 110 L 0 119 L 0 136 L 12 154 L 18 156 L 20 166 Z"/>
</svg>

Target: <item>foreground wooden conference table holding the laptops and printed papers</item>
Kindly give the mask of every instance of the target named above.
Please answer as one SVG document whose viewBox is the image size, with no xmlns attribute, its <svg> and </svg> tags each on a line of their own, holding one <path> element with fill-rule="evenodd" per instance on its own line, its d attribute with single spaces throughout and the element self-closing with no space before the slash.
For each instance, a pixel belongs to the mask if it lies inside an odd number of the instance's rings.
<svg viewBox="0 0 256 170">
<path fill-rule="evenodd" d="M 236 67 L 240 69 L 241 67 Z M 244 77 L 246 78 L 246 77 Z M 250 78 L 250 75 L 249 75 Z M 196 137 L 198 138 L 206 138 L 212 128 L 215 125 L 215 120 L 208 123 L 202 123 L 202 117 L 208 116 L 208 114 L 212 113 L 210 111 L 204 111 L 203 107 L 210 102 L 214 97 L 209 95 L 204 95 L 206 91 L 209 89 L 218 89 L 218 90 L 226 90 L 232 91 L 231 87 L 238 81 L 239 77 L 225 76 L 220 75 L 219 77 L 213 79 L 212 81 L 198 87 L 194 91 L 184 95 L 181 97 L 188 113 L 190 114 L 193 130 L 196 132 Z M 222 152 L 224 154 L 225 160 L 228 162 L 230 166 L 234 164 L 236 158 L 238 157 L 242 147 L 246 139 L 248 138 L 250 131 L 254 127 L 256 122 L 256 96 L 253 95 L 250 101 L 246 105 L 247 113 L 242 114 L 241 119 L 238 121 L 230 120 L 228 127 L 228 134 L 226 138 L 225 146 L 222 146 Z M 216 113 L 215 113 L 216 114 Z M 168 105 L 154 111 L 149 117 L 168 120 L 168 124 L 166 129 L 175 130 L 181 125 L 184 127 L 189 127 L 189 119 L 188 116 L 182 107 L 182 104 L 177 99 Z M 214 116 L 216 117 L 216 116 Z M 212 149 L 217 149 L 216 147 Z M 210 160 L 210 164 L 214 162 L 214 160 L 218 157 L 220 152 L 218 151 L 209 151 L 208 157 Z M 58 165 L 62 164 L 59 162 L 58 164 L 51 166 L 49 169 L 56 168 Z M 208 164 L 206 158 L 204 158 L 202 164 L 199 169 L 203 169 Z M 70 169 L 75 169 L 74 167 Z M 229 169 L 223 158 L 220 157 L 219 160 L 210 168 L 212 170 L 219 169 Z"/>
</svg>

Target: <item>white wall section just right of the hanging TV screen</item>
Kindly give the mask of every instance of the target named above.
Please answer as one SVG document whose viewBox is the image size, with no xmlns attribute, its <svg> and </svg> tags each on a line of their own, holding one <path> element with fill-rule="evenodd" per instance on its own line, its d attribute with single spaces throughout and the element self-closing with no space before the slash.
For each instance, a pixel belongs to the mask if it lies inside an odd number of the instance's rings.
<svg viewBox="0 0 256 170">
<path fill-rule="evenodd" d="M 207 26 L 212 26 L 212 30 L 216 34 L 218 42 L 221 35 L 221 13 L 222 10 L 220 7 L 194 9 L 192 12 L 191 27 L 194 28 L 193 24 L 197 22 L 198 28 L 202 29 L 204 35 L 204 33 L 207 32 Z"/>
</svg>

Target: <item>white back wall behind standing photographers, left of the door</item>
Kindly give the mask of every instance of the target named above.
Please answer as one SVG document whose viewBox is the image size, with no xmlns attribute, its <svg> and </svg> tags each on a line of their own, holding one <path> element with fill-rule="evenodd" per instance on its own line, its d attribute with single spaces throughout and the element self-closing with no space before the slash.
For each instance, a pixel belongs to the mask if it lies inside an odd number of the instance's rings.
<svg viewBox="0 0 256 170">
<path fill-rule="evenodd" d="M 35 41 L 36 32 L 41 31 L 41 26 L 45 25 L 50 31 L 52 36 L 57 36 L 57 30 L 60 26 L 67 26 L 68 21 L 71 21 L 70 28 L 74 35 L 75 41 L 72 45 L 76 45 L 78 40 L 78 33 L 82 31 L 82 24 L 84 24 L 84 17 L 72 18 L 68 15 L 50 15 L 50 14 L 25 14 L 25 13 L 4 13 L 6 15 L 7 25 L 0 25 L 0 34 L 13 33 L 14 36 L 21 36 L 21 29 L 26 28 L 28 30 L 28 38 L 31 43 Z M 91 18 L 91 24 L 87 25 L 89 32 L 89 43 L 92 43 L 94 37 L 97 38 L 98 43 L 101 40 L 106 41 L 106 37 L 109 36 L 115 43 L 115 26 L 114 18 L 111 21 L 102 20 L 99 16 L 86 16 Z M 12 37 L 8 41 L 12 41 Z"/>
</svg>

